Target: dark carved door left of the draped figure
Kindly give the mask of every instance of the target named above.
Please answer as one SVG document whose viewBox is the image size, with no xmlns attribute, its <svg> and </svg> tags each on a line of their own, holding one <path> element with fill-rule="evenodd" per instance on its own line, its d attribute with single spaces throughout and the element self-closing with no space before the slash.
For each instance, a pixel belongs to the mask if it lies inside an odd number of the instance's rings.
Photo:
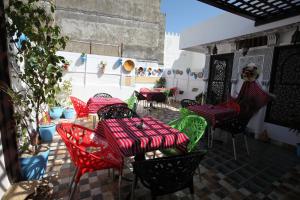
<svg viewBox="0 0 300 200">
<path fill-rule="evenodd" d="M 233 56 L 233 53 L 211 56 L 207 103 L 218 104 L 224 102 L 230 95 Z"/>
</svg>

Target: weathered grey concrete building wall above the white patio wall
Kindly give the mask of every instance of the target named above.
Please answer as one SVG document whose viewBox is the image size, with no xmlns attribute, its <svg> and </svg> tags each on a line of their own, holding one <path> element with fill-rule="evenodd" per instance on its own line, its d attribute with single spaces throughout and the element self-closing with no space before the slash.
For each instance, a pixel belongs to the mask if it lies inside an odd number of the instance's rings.
<svg viewBox="0 0 300 200">
<path fill-rule="evenodd" d="M 163 62 L 160 0 L 57 0 L 56 6 L 56 22 L 71 39 L 67 51 Z"/>
</svg>

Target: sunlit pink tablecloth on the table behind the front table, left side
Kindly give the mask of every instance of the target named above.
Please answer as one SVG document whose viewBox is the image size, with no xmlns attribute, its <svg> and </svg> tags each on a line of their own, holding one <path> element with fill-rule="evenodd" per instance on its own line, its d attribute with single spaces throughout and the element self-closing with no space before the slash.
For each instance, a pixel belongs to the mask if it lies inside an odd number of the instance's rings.
<svg viewBox="0 0 300 200">
<path fill-rule="evenodd" d="M 92 97 L 87 102 L 87 108 L 89 113 L 97 113 L 97 111 L 107 105 L 113 104 L 124 104 L 126 103 L 118 98 L 102 98 L 102 97 Z"/>
</svg>

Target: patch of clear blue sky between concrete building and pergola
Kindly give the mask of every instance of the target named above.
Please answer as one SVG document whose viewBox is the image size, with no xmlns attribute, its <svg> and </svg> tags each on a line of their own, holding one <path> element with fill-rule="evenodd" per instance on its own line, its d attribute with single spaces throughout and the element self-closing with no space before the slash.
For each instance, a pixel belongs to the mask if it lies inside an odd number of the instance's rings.
<svg viewBox="0 0 300 200">
<path fill-rule="evenodd" d="M 161 12 L 166 14 L 166 32 L 181 33 L 224 11 L 197 0 L 162 0 Z"/>
</svg>

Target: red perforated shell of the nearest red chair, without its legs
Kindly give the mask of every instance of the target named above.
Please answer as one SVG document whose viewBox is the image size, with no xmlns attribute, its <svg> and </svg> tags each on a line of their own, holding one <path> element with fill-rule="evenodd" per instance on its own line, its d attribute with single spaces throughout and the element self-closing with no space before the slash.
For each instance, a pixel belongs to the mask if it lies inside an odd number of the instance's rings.
<svg viewBox="0 0 300 200">
<path fill-rule="evenodd" d="M 109 145 L 105 141 L 97 140 L 95 145 L 91 136 L 94 134 L 92 130 L 73 123 L 61 123 L 56 127 L 57 133 L 61 136 L 66 144 L 74 165 L 80 168 L 93 168 L 93 166 L 105 166 L 105 162 L 118 167 L 122 162 L 120 156 L 109 150 Z M 101 158 L 88 152 L 87 149 L 93 147 L 97 149 L 97 153 L 101 152 Z M 97 154 L 98 155 L 98 154 Z M 99 155 L 98 155 L 99 156 Z M 106 159 L 105 159 L 106 158 Z"/>
</svg>

